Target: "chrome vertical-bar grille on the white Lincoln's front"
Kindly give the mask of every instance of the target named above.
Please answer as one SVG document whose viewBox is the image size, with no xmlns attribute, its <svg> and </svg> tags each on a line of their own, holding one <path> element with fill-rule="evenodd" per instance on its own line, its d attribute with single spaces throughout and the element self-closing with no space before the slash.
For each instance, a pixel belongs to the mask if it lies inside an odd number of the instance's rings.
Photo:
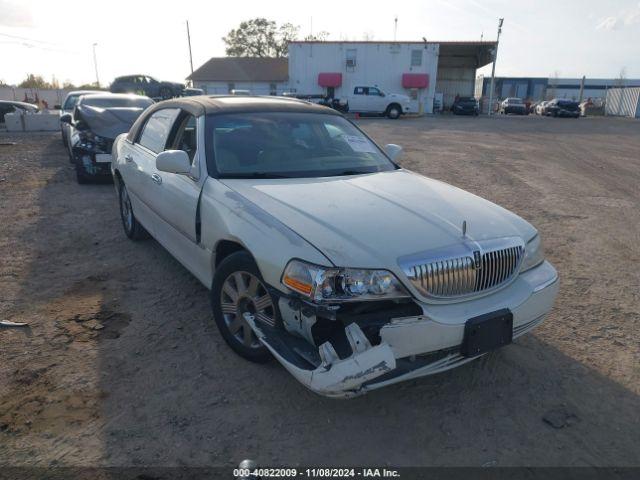
<svg viewBox="0 0 640 480">
<path fill-rule="evenodd" d="M 485 292 L 508 282 L 522 260 L 522 244 L 470 251 L 429 262 L 403 265 L 413 285 L 425 296 L 460 297 Z"/>
</svg>

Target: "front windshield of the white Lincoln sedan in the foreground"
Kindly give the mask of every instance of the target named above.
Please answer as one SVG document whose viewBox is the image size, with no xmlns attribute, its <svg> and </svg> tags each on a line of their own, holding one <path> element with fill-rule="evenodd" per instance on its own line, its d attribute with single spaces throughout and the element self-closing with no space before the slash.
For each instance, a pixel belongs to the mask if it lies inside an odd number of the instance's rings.
<svg viewBox="0 0 640 480">
<path fill-rule="evenodd" d="M 215 170 L 222 178 L 327 177 L 396 166 L 337 115 L 236 113 L 211 116 Z"/>
</svg>

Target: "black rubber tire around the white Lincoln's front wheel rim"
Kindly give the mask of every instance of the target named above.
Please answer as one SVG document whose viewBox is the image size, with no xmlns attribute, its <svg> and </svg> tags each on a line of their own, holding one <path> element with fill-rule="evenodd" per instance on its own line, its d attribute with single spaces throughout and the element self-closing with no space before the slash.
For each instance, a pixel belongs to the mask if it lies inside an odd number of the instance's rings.
<svg viewBox="0 0 640 480">
<path fill-rule="evenodd" d="M 231 317 L 233 318 L 232 320 L 229 320 L 228 317 L 225 317 L 225 314 L 223 314 L 223 288 L 225 286 L 225 282 L 234 277 L 234 274 L 247 274 L 255 277 L 259 282 L 261 282 L 261 288 L 263 289 L 261 290 L 261 292 L 263 292 L 263 296 L 268 295 L 272 301 L 272 316 L 274 322 L 276 324 L 280 323 L 276 301 L 266 290 L 266 285 L 264 283 L 262 275 L 260 275 L 258 266 L 256 265 L 249 252 L 246 251 L 239 251 L 229 255 L 216 268 L 216 273 L 213 277 L 213 284 L 211 286 L 211 309 L 213 311 L 213 319 L 218 326 L 218 330 L 220 330 L 222 338 L 225 342 L 227 342 L 227 345 L 229 345 L 229 347 L 231 347 L 234 352 L 251 362 L 266 363 L 272 358 L 271 352 L 269 352 L 269 349 L 267 347 L 262 345 L 259 340 L 254 346 L 247 346 L 246 343 L 242 342 L 238 338 L 238 335 L 240 335 L 238 330 L 237 333 L 233 333 L 231 331 L 231 328 L 235 324 L 235 318 L 240 315 L 239 312 L 241 311 L 241 309 L 238 308 L 235 313 L 226 314 L 231 315 Z M 238 291 L 239 290 L 240 289 L 238 289 Z M 246 297 L 243 296 L 243 298 Z M 240 301 L 238 301 L 238 303 L 239 302 Z M 241 321 L 241 323 L 243 323 L 243 326 L 240 327 L 243 333 L 245 332 L 244 328 L 250 329 L 246 322 Z M 255 334 L 252 332 L 250 332 L 250 335 L 255 336 Z M 251 341 L 249 343 L 251 343 Z"/>
</svg>

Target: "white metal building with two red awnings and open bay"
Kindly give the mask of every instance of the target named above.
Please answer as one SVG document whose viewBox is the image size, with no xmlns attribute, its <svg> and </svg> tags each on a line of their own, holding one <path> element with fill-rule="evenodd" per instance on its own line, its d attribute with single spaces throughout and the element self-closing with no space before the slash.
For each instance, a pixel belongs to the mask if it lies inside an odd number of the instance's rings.
<svg viewBox="0 0 640 480">
<path fill-rule="evenodd" d="M 289 45 L 289 88 L 298 94 L 336 98 L 356 86 L 403 93 L 414 111 L 431 113 L 473 96 L 476 70 L 491 61 L 495 42 L 301 41 Z"/>
</svg>

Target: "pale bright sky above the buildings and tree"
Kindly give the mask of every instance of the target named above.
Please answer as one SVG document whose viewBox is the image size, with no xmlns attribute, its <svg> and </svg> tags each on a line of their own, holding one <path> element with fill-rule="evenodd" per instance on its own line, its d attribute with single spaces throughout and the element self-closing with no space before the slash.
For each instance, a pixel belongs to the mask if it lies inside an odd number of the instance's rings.
<svg viewBox="0 0 640 480">
<path fill-rule="evenodd" d="M 184 7 L 180 7 L 184 5 Z M 0 0 L 0 80 L 28 73 L 76 84 L 145 73 L 184 81 L 193 64 L 224 56 L 222 37 L 265 17 L 326 31 L 330 40 L 494 40 L 504 27 L 498 76 L 640 78 L 639 0 Z M 169 8 L 167 8 L 170 6 Z M 311 16 L 313 15 L 313 16 Z M 490 67 L 478 73 L 490 74 Z"/>
</svg>

